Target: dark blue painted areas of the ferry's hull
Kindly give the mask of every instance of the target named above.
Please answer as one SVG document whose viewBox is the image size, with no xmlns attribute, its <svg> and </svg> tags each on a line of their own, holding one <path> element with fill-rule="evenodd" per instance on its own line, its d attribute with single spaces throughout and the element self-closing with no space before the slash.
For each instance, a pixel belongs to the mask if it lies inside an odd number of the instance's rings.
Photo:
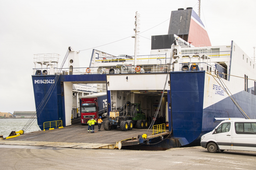
<svg viewBox="0 0 256 170">
<path fill-rule="evenodd" d="M 212 86 L 206 83 L 206 74 L 205 71 L 170 72 L 170 90 L 168 90 L 168 103 L 171 104 L 171 109 L 168 109 L 169 131 L 173 131 L 173 137 L 185 138 L 190 145 L 193 143 L 197 145 L 203 134 L 210 132 L 219 124 L 215 121 L 216 117 L 228 117 L 226 111 L 229 112 L 229 117 L 244 118 L 227 95 L 222 100 L 204 108 L 204 102 L 208 97 L 205 96 L 205 93 Z M 49 82 L 55 77 L 56 75 L 32 76 L 38 125 L 41 129 L 43 129 L 43 123 L 49 121 L 62 120 L 63 126 L 67 124 L 65 122 L 65 98 L 61 95 L 61 81 L 106 82 L 106 74 L 60 75 L 40 114 L 38 107 L 50 88 L 50 84 L 35 83 L 35 81 L 48 80 Z M 254 119 L 256 110 L 253 103 L 256 101 L 256 96 L 246 91 L 240 91 L 233 96 L 248 116 Z M 108 90 L 107 99 L 107 102 L 110 103 L 110 90 Z M 109 111 L 110 104 L 108 104 Z"/>
</svg>

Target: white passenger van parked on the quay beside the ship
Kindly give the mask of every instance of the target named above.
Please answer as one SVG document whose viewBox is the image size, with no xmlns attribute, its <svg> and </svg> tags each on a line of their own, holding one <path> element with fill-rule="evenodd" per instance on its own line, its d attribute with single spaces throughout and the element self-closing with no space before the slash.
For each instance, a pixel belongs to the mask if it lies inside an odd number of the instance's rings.
<svg viewBox="0 0 256 170">
<path fill-rule="evenodd" d="M 222 121 L 214 130 L 202 136 L 200 143 L 210 153 L 224 150 L 256 151 L 256 119 Z"/>
</svg>

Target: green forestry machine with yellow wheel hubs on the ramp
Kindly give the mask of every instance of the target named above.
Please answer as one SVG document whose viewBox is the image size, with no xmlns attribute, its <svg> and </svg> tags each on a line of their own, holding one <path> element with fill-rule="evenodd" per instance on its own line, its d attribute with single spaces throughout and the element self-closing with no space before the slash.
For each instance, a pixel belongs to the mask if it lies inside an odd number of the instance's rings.
<svg viewBox="0 0 256 170">
<path fill-rule="evenodd" d="M 105 117 L 104 129 L 111 130 L 120 127 L 122 131 L 132 130 L 134 125 L 137 129 L 148 127 L 145 113 L 142 112 L 141 105 L 127 101 L 119 110 L 110 112 L 109 116 Z"/>
</svg>

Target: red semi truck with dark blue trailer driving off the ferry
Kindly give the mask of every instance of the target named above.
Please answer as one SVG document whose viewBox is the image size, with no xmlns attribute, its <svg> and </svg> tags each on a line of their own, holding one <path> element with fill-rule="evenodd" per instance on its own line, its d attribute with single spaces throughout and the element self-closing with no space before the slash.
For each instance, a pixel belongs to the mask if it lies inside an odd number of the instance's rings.
<svg viewBox="0 0 256 170">
<path fill-rule="evenodd" d="M 80 100 L 81 124 L 87 124 L 88 120 L 98 121 L 99 116 L 107 113 L 107 93 L 95 93 L 82 96 Z"/>
</svg>

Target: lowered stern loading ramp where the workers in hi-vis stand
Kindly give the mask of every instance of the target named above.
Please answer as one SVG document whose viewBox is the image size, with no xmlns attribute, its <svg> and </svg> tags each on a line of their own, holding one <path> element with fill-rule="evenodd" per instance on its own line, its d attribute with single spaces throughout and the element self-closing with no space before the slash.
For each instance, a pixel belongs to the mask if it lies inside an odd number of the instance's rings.
<svg viewBox="0 0 256 170">
<path fill-rule="evenodd" d="M 31 146 L 50 146 L 50 147 L 67 147 L 83 149 L 121 149 L 122 146 L 142 145 L 150 139 L 159 138 L 169 135 L 169 132 L 150 135 L 147 139 L 137 140 L 138 135 L 146 133 L 147 129 L 136 129 L 122 132 L 119 128 L 106 131 L 101 126 L 95 124 L 95 133 L 88 133 L 87 125 L 81 125 L 80 119 L 73 119 L 72 125 L 61 129 L 46 131 L 35 131 L 24 133 L 16 138 L 0 140 L 0 145 L 31 145 Z M 152 133 L 152 132 L 151 132 Z M 133 140 L 129 140 L 133 139 Z M 121 146 L 120 146 L 121 143 Z"/>
</svg>

